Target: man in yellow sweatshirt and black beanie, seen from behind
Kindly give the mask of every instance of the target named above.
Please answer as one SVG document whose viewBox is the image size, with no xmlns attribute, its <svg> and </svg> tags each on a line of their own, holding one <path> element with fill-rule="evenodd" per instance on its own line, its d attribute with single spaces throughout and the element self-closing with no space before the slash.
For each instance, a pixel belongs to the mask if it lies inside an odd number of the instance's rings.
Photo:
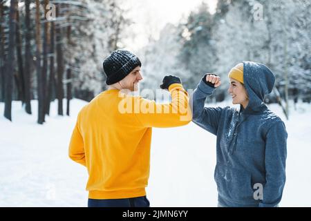
<svg viewBox="0 0 311 221">
<path fill-rule="evenodd" d="M 152 127 L 188 124 L 189 97 L 171 75 L 160 86 L 171 93 L 169 104 L 130 95 L 142 75 L 140 59 L 128 50 L 112 52 L 103 67 L 109 88 L 79 112 L 69 157 L 88 170 L 88 206 L 149 206 Z"/>
</svg>

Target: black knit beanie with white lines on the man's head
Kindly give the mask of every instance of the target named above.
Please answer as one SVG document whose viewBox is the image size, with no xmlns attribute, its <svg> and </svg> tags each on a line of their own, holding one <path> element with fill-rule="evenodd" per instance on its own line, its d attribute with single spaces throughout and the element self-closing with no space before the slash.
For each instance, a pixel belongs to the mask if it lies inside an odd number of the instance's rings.
<svg viewBox="0 0 311 221">
<path fill-rule="evenodd" d="M 128 50 L 115 50 L 107 57 L 103 64 L 106 74 L 106 84 L 111 85 L 121 81 L 137 66 L 142 66 L 140 59 Z"/>
</svg>

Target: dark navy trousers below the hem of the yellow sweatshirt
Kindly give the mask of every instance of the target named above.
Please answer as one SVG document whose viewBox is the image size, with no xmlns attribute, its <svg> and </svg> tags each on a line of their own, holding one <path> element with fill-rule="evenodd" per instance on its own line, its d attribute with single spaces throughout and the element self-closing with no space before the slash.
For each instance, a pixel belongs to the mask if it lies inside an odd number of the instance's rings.
<svg viewBox="0 0 311 221">
<path fill-rule="evenodd" d="M 139 198 L 94 200 L 88 199 L 88 207 L 149 207 L 150 203 L 146 196 Z"/>
</svg>

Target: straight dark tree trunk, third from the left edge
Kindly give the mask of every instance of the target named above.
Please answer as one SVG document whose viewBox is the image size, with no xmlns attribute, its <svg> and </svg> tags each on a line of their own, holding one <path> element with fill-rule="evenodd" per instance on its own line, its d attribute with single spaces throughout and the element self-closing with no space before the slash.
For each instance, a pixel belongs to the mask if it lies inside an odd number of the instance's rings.
<svg viewBox="0 0 311 221">
<path fill-rule="evenodd" d="M 26 103 L 26 113 L 31 115 L 31 104 L 30 104 L 30 64 L 32 64 L 32 55 L 31 55 L 31 47 L 30 47 L 30 0 L 25 0 L 25 80 L 24 80 L 24 88 L 25 88 L 25 103 Z"/>
</svg>

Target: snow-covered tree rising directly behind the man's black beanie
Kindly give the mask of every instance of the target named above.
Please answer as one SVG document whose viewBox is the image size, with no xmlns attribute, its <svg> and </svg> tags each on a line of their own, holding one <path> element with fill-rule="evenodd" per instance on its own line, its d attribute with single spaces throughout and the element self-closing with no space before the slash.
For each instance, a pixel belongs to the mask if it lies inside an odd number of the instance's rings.
<svg viewBox="0 0 311 221">
<path fill-rule="evenodd" d="M 124 17 L 121 1 L 84 0 L 83 3 L 88 8 L 86 21 L 72 27 L 74 43 L 68 52 L 73 66 L 74 96 L 89 101 L 105 87 L 102 62 L 123 46 L 123 30 L 130 21 Z"/>
</svg>

